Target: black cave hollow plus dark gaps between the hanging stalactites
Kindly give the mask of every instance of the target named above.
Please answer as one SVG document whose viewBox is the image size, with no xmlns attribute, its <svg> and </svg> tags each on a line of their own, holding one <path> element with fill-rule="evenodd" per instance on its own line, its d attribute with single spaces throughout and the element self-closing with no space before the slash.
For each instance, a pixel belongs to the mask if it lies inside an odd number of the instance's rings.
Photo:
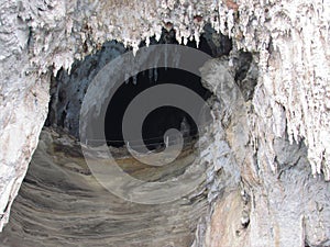
<svg viewBox="0 0 330 247">
<path fill-rule="evenodd" d="M 209 32 L 213 32 L 213 30 Z M 212 57 L 228 55 L 232 48 L 231 40 L 221 35 L 221 45 L 215 46 L 210 41 L 209 34 L 210 33 L 200 37 L 198 49 Z M 175 38 L 175 30 L 166 31 L 163 29 L 160 42 L 156 42 L 155 38 L 151 38 L 151 44 L 178 44 Z M 145 46 L 145 43 L 142 42 L 140 46 Z M 195 41 L 188 41 L 187 46 L 197 48 Z M 134 97 L 143 90 L 156 85 L 176 83 L 193 90 L 204 100 L 207 100 L 211 96 L 211 92 L 202 87 L 200 78 L 188 71 L 158 67 L 156 75 L 157 76 L 151 75 L 151 71 L 139 72 L 135 78 L 130 78 L 129 81 L 123 83 L 114 93 L 109 102 L 105 120 L 105 134 L 109 146 L 120 147 L 124 145 L 121 125 L 124 111 Z M 174 106 L 155 109 L 147 115 L 142 126 L 142 136 L 145 146 L 148 149 L 157 149 L 160 146 L 164 146 L 163 136 L 165 132 L 168 128 L 183 131 L 183 124 L 188 126 L 189 137 L 198 136 L 196 123 L 194 123 L 190 115 L 186 112 Z M 189 138 L 185 138 L 185 142 Z"/>
</svg>

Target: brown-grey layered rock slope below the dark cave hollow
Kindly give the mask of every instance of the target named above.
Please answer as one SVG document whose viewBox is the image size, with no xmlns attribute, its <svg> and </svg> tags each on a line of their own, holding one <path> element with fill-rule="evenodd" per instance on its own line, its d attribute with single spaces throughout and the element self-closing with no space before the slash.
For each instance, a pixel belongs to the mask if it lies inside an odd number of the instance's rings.
<svg viewBox="0 0 330 247">
<path fill-rule="evenodd" d="M 131 176 L 157 181 L 182 173 L 195 157 L 187 147 L 173 164 L 153 168 L 118 149 L 116 161 Z M 156 205 L 118 198 L 94 178 L 74 138 L 45 128 L 0 245 L 186 247 L 206 209 L 205 192 Z"/>
</svg>

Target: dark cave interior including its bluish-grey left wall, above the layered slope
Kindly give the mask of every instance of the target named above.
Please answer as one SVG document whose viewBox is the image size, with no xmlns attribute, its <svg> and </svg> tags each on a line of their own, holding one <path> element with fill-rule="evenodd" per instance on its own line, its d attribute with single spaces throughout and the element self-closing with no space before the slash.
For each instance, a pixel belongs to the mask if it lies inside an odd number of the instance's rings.
<svg viewBox="0 0 330 247">
<path fill-rule="evenodd" d="M 150 44 L 178 45 L 175 30 L 167 31 L 163 29 L 160 41 L 152 37 Z M 140 47 L 143 46 L 145 46 L 145 42 L 141 42 Z M 210 25 L 206 25 L 198 48 L 194 40 L 188 41 L 186 46 L 199 49 L 211 57 L 221 57 L 229 55 L 232 49 L 232 41 L 226 35 L 216 33 Z M 62 69 L 56 77 L 53 77 L 50 111 L 45 126 L 62 128 L 67 134 L 79 139 L 79 111 L 89 83 L 110 60 L 130 49 L 130 47 L 125 48 L 122 43 L 116 41 L 107 42 L 96 54 L 86 56 L 84 60 L 76 60 L 70 74 Z M 103 126 L 109 146 L 121 147 L 124 145 L 122 117 L 127 106 L 134 97 L 153 86 L 162 83 L 175 83 L 186 87 L 204 100 L 211 96 L 211 92 L 202 87 L 198 76 L 185 70 L 157 67 L 152 69 L 152 72 L 150 70 L 139 72 L 118 88 L 118 91 L 108 104 Z M 164 133 L 168 128 L 180 131 L 183 123 L 188 125 L 188 136 L 198 137 L 196 123 L 187 113 L 174 106 L 155 109 L 143 122 L 142 136 L 144 144 L 148 149 L 157 149 L 160 145 L 164 146 Z"/>
</svg>

